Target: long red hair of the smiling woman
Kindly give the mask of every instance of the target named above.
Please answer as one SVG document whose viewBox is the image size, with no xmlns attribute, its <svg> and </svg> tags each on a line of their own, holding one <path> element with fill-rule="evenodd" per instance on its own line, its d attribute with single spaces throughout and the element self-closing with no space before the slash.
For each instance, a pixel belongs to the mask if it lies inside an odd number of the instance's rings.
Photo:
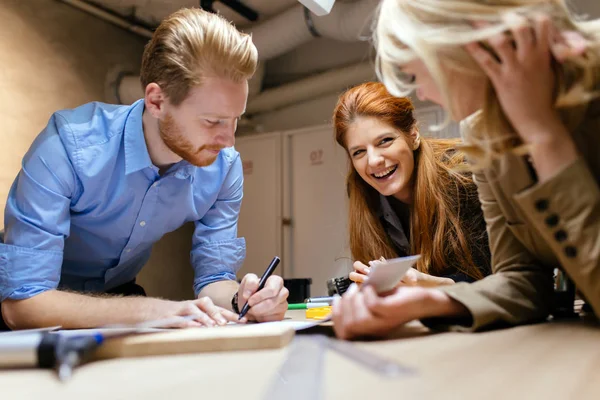
<svg viewBox="0 0 600 400">
<path fill-rule="evenodd" d="M 417 121 L 408 98 L 391 95 L 378 82 L 364 83 L 343 93 L 333 112 L 335 139 L 347 151 L 346 134 L 360 116 L 371 116 L 405 135 Z M 413 204 L 410 211 L 411 254 L 421 254 L 417 269 L 439 275 L 448 260 L 475 278 L 483 277 L 473 262 L 472 245 L 459 220 L 461 193 L 475 194 L 472 179 L 456 172 L 464 164 L 464 155 L 454 151 L 458 140 L 421 138 L 414 151 Z M 383 256 L 396 257 L 392 244 L 375 210 L 379 193 L 365 182 L 350 161 L 346 185 L 349 197 L 350 250 L 355 260 L 368 262 Z"/>
</svg>

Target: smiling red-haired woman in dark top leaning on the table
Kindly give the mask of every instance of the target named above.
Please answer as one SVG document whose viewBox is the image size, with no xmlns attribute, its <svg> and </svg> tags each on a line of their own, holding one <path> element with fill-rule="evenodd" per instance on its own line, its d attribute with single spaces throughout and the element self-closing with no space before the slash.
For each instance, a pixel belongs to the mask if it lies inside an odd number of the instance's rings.
<svg viewBox="0 0 600 400">
<path fill-rule="evenodd" d="M 350 249 L 362 282 L 375 260 L 420 254 L 404 284 L 472 282 L 490 273 L 486 224 L 459 140 L 419 135 L 413 105 L 369 82 L 342 94 L 335 139 L 350 160 Z"/>
</svg>

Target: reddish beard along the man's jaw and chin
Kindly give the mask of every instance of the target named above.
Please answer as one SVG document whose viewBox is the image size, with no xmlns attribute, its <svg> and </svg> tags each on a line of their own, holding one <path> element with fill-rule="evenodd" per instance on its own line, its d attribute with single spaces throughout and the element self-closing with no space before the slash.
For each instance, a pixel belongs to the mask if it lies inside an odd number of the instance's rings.
<svg viewBox="0 0 600 400">
<path fill-rule="evenodd" d="M 195 148 L 182 134 L 181 129 L 171 116 L 167 114 L 163 120 L 158 120 L 158 132 L 165 145 L 173 153 L 197 167 L 211 165 L 217 159 L 217 155 L 208 156 L 205 150 L 220 150 L 220 147 L 202 145 Z M 204 153 L 204 154 L 203 154 Z"/>
</svg>

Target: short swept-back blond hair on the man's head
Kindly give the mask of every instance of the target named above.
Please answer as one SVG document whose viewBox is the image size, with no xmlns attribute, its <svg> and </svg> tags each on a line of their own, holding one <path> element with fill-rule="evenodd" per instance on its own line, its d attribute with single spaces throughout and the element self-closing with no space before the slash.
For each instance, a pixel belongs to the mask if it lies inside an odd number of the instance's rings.
<svg viewBox="0 0 600 400">
<path fill-rule="evenodd" d="M 144 49 L 140 81 L 152 82 L 179 105 L 204 78 L 235 82 L 254 75 L 258 51 L 248 34 L 217 14 L 184 8 L 167 17 Z"/>
</svg>

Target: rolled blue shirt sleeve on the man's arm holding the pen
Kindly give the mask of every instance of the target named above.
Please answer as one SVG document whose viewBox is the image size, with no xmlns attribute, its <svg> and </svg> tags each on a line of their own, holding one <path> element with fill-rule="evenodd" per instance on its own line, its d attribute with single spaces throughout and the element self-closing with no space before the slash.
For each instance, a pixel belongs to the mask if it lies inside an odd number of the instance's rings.
<svg viewBox="0 0 600 400">
<path fill-rule="evenodd" d="M 244 262 L 246 242 L 244 238 L 237 237 L 243 185 L 242 162 L 236 153 L 217 201 L 204 217 L 196 221 L 191 252 L 196 296 L 206 285 L 235 280 Z"/>
</svg>

